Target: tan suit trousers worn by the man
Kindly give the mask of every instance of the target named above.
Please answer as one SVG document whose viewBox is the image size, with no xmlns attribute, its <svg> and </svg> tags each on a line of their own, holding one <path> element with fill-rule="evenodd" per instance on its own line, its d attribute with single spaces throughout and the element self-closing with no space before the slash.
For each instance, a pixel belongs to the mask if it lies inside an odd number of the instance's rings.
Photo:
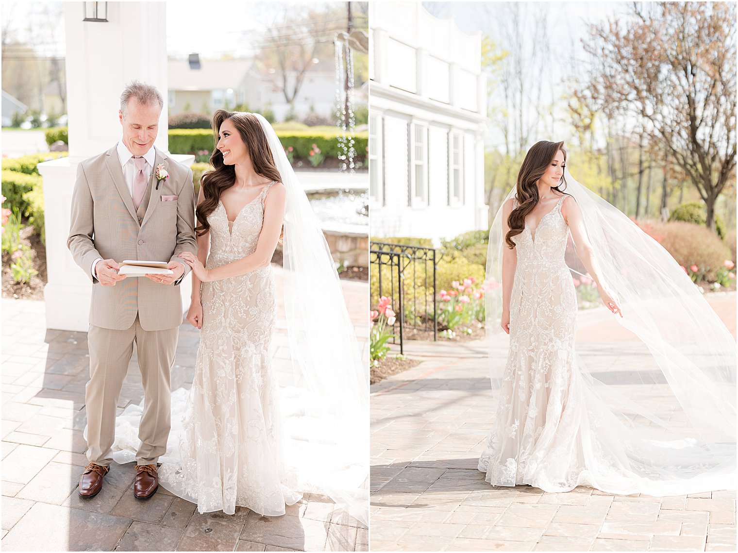
<svg viewBox="0 0 738 553">
<path fill-rule="evenodd" d="M 145 278 L 145 277 L 140 277 Z M 136 344 L 144 392 L 144 409 L 139 427 L 141 445 L 138 464 L 156 464 L 167 450 L 170 429 L 171 368 L 177 348 L 179 326 L 146 331 L 137 315 L 125 330 L 90 325 L 90 379 L 85 402 L 87 411 L 87 458 L 108 466 L 115 439 L 115 415 L 120 389 Z"/>
</svg>

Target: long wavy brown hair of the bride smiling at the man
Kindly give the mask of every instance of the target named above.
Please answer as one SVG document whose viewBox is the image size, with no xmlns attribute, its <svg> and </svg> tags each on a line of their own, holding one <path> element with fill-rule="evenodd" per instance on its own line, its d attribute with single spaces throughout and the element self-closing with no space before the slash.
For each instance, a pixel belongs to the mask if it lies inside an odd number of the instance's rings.
<svg viewBox="0 0 738 553">
<path fill-rule="evenodd" d="M 275 159 L 272 157 L 272 150 L 269 149 L 269 141 L 266 140 L 266 134 L 261 128 L 261 123 L 254 114 L 226 111 L 225 109 L 215 111 L 213 115 L 214 145 L 218 145 L 218 133 L 221 125 L 227 119 L 233 123 L 241 140 L 244 141 L 256 174 L 266 179 L 281 182 L 282 177 L 275 165 Z M 210 155 L 210 165 L 213 165 L 213 171 L 207 171 L 200 177 L 204 199 L 195 210 L 197 220 L 200 223 L 199 227 L 195 227 L 198 236 L 202 236 L 210 230 L 207 216 L 215 211 L 215 207 L 218 207 L 221 194 L 235 185 L 235 166 L 225 165 L 223 154 L 217 148 L 213 148 L 213 154 Z"/>
</svg>

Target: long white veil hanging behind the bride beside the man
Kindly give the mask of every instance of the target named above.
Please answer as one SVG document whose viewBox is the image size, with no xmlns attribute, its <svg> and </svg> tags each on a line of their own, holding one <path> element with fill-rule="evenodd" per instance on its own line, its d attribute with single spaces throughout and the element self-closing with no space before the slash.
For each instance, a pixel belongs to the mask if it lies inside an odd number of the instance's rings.
<svg viewBox="0 0 738 553">
<path fill-rule="evenodd" d="M 269 122 L 286 188 L 283 281 L 293 379 L 281 402 L 298 489 L 329 495 L 368 523 L 369 379 L 323 230 Z"/>
</svg>

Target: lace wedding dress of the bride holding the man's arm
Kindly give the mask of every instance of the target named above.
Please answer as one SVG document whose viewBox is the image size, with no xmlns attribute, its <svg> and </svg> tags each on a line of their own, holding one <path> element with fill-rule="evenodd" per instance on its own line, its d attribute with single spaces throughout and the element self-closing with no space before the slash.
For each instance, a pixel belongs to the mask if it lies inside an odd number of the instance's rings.
<svg viewBox="0 0 738 553">
<path fill-rule="evenodd" d="M 274 183 L 229 221 L 218 203 L 208 217 L 207 269 L 254 252 L 264 200 Z M 159 459 L 159 484 L 197 504 L 199 512 L 232 515 L 245 506 L 261 515 L 285 513 L 300 500 L 296 476 L 282 457 L 279 389 L 269 345 L 277 303 L 272 267 L 221 281 L 204 282 L 203 324 L 189 393 L 172 394 L 168 450 Z M 134 460 L 139 405 L 117 418 L 114 458 Z M 287 484 L 289 482 L 289 485 Z"/>
</svg>

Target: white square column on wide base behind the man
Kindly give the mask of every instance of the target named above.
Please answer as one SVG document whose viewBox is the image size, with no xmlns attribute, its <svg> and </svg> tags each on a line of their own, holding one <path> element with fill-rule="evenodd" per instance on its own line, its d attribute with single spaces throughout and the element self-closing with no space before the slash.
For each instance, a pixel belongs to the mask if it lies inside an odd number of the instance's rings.
<svg viewBox="0 0 738 553">
<path fill-rule="evenodd" d="M 77 165 L 120 139 L 120 93 L 131 80 L 159 89 L 164 98 L 156 147 L 168 151 L 167 44 L 164 2 L 108 2 L 108 21 L 83 21 L 82 2 L 66 2 L 66 82 L 69 157 L 38 165 L 44 178 L 46 327 L 89 329 L 92 283 L 66 247 Z M 190 164 L 192 156 L 173 156 Z M 190 285 L 182 283 L 182 298 Z"/>
</svg>

